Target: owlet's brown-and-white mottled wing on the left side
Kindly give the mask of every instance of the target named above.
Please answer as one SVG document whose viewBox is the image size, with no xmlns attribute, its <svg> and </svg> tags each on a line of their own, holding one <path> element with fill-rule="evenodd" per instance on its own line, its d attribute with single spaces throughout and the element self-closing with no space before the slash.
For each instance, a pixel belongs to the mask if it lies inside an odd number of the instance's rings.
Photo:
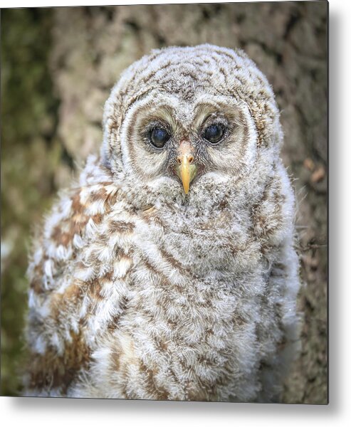
<svg viewBox="0 0 351 427">
<path fill-rule="evenodd" d="M 93 174 L 87 173 L 89 167 Z M 116 325 L 124 308 L 123 278 L 132 261 L 122 247 L 132 225 L 114 215 L 113 207 L 122 201 L 109 178 L 90 159 L 81 175 L 83 185 L 61 196 L 33 245 L 27 396 L 65 396 L 88 367 L 99 334 Z M 117 287 L 112 286 L 115 278 Z"/>
</svg>

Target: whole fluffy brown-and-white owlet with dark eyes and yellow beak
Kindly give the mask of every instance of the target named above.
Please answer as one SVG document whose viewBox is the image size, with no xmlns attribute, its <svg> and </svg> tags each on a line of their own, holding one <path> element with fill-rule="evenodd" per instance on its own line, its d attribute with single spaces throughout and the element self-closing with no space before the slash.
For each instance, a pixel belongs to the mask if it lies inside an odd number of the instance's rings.
<svg viewBox="0 0 351 427">
<path fill-rule="evenodd" d="M 152 51 L 34 243 L 25 395 L 277 401 L 298 338 L 294 195 L 242 52 Z"/>
</svg>

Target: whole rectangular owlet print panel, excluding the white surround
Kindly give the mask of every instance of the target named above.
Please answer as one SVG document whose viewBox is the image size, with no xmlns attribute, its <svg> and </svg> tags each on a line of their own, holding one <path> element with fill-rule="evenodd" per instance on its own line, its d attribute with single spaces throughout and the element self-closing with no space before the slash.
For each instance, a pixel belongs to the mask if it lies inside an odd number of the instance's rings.
<svg viewBox="0 0 351 427">
<path fill-rule="evenodd" d="M 1 9 L 1 396 L 328 405 L 328 13 Z"/>
</svg>

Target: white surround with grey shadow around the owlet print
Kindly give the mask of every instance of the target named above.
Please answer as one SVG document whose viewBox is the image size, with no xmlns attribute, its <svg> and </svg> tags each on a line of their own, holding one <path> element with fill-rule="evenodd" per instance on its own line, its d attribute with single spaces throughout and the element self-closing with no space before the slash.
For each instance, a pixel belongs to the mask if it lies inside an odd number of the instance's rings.
<svg viewBox="0 0 351 427">
<path fill-rule="evenodd" d="M 207 1 L 198 1 L 205 3 Z M 209 3 L 213 1 L 208 1 Z M 16 1 L 1 7 L 157 4 L 162 1 Z M 189 3 L 189 1 L 169 1 Z M 0 397 L 3 426 L 347 426 L 350 423 L 351 1 L 330 0 L 330 405 L 201 404 Z M 1 33 L 1 36 L 4 34 Z M 6 35 L 5 35 L 6 36 Z M 348 136 L 348 138 L 347 138 Z M 347 417 L 348 416 L 348 417 Z M 241 424 L 242 423 L 242 424 Z"/>
</svg>

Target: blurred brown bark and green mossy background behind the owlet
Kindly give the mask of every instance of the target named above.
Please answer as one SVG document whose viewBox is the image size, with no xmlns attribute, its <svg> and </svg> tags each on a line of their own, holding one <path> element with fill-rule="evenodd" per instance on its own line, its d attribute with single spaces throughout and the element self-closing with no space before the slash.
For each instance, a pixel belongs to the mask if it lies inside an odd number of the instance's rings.
<svg viewBox="0 0 351 427">
<path fill-rule="evenodd" d="M 27 253 L 58 189 L 102 140 L 122 70 L 152 48 L 242 48 L 273 85 L 298 214 L 302 351 L 285 403 L 325 404 L 327 378 L 328 3 L 1 10 L 1 395 L 21 394 Z"/>
</svg>

